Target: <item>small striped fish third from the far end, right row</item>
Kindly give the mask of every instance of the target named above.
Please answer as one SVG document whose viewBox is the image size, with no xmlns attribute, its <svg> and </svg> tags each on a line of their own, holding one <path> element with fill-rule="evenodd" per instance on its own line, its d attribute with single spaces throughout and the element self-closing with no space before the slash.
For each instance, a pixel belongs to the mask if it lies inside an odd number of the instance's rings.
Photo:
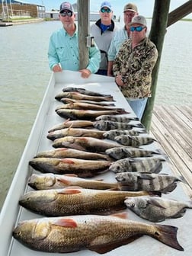
<svg viewBox="0 0 192 256">
<path fill-rule="evenodd" d="M 139 133 L 146 133 L 146 130 L 108 130 L 105 131 L 104 138 L 114 140 L 119 135 L 139 135 Z"/>
</svg>

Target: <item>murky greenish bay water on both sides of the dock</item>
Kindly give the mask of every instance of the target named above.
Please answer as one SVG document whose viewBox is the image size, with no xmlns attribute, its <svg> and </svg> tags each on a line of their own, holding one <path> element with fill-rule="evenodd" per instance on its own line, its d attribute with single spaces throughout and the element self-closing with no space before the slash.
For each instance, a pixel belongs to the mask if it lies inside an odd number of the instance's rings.
<svg viewBox="0 0 192 256">
<path fill-rule="evenodd" d="M 0 27 L 0 209 L 50 80 L 47 49 L 59 27 L 60 21 Z M 155 104 L 192 106 L 191 41 L 192 22 L 168 27 Z"/>
</svg>

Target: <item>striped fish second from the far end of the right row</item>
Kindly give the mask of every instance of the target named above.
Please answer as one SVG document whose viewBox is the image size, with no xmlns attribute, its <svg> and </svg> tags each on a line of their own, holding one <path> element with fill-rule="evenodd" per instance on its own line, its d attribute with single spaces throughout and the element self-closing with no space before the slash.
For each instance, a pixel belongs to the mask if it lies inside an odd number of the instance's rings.
<svg viewBox="0 0 192 256">
<path fill-rule="evenodd" d="M 112 113 L 111 113 L 112 114 Z M 123 114 L 123 113 L 122 113 Z M 93 124 L 94 128 L 98 130 L 131 130 L 133 127 L 143 128 L 142 123 L 120 123 L 120 122 L 112 122 L 112 121 L 96 121 Z"/>
</svg>

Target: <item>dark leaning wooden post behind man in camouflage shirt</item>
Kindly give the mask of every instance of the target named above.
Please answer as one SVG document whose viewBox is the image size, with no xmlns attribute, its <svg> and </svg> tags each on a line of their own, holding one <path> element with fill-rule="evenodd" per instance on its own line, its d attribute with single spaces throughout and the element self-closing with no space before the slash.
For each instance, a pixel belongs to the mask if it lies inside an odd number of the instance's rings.
<svg viewBox="0 0 192 256">
<path fill-rule="evenodd" d="M 158 69 L 160 65 L 160 60 L 162 56 L 162 47 L 168 22 L 168 11 L 171 0 L 155 0 L 155 5 L 152 14 L 152 26 L 149 34 L 150 40 L 155 43 L 158 50 L 158 59 L 155 67 L 152 71 L 152 97 L 148 99 L 146 104 L 146 109 L 142 117 L 142 123 L 146 126 L 146 130 L 149 131 L 151 120 L 152 120 L 152 110 L 155 102 L 155 91 L 158 80 Z"/>
</svg>

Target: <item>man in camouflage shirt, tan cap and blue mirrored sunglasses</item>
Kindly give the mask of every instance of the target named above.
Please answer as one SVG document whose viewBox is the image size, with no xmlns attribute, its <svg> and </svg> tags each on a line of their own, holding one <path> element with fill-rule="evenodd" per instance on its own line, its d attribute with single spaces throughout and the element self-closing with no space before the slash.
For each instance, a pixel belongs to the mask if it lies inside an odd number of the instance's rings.
<svg viewBox="0 0 192 256">
<path fill-rule="evenodd" d="M 158 58 L 154 43 L 146 37 L 146 18 L 137 15 L 130 23 L 131 38 L 117 54 L 113 71 L 115 82 L 141 120 L 147 98 L 151 97 L 152 69 Z"/>
</svg>

